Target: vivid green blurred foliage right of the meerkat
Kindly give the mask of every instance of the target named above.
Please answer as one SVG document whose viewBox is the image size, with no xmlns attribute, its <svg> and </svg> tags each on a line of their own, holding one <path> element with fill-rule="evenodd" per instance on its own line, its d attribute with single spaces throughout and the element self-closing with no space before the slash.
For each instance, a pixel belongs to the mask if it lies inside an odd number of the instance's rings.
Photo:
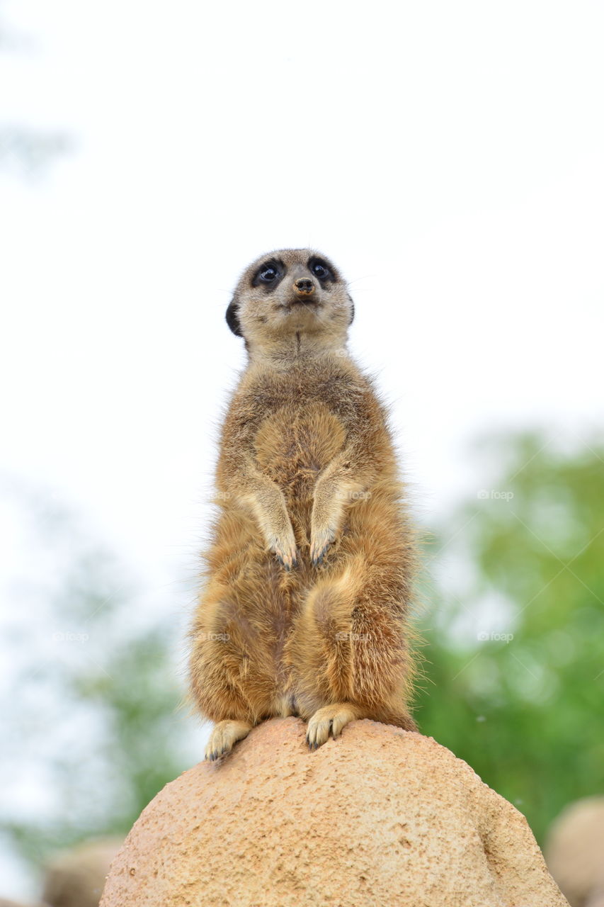
<svg viewBox="0 0 604 907">
<path fill-rule="evenodd" d="M 604 446 L 522 435 L 482 450 L 492 491 L 435 546 L 416 714 L 541 840 L 565 804 L 604 793 Z"/>
</svg>

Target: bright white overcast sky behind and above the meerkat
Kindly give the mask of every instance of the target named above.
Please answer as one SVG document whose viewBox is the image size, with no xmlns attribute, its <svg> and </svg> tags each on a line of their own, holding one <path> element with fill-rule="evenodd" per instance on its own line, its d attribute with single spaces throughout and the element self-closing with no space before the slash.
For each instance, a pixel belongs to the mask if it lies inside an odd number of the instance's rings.
<svg viewBox="0 0 604 907">
<path fill-rule="evenodd" d="M 243 363 L 224 310 L 263 251 L 351 282 L 428 522 L 482 487 L 477 432 L 602 424 L 599 3 L 0 11 L 0 124 L 76 143 L 0 176 L 1 465 L 88 514 L 150 608 L 185 598 Z"/>
</svg>

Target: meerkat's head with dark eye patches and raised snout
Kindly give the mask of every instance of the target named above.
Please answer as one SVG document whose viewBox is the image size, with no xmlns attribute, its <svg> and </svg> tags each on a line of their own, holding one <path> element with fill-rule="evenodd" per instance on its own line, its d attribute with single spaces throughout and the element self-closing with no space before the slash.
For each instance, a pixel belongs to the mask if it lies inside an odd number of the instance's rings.
<svg viewBox="0 0 604 907">
<path fill-rule="evenodd" d="M 243 272 L 227 309 L 227 323 L 246 346 L 300 343 L 341 346 L 355 307 L 339 271 L 311 249 L 280 249 Z"/>
</svg>

